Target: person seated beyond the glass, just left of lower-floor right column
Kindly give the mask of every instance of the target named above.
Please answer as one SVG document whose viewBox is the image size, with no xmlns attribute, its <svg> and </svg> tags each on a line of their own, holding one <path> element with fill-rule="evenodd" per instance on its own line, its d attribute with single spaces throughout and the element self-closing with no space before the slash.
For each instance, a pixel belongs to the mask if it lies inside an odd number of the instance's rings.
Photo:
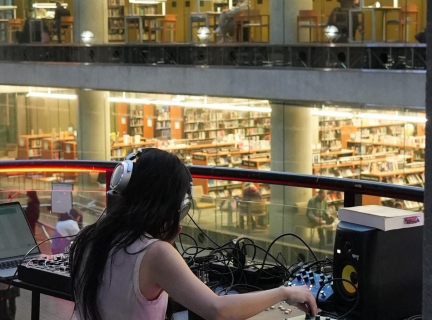
<svg viewBox="0 0 432 320">
<path fill-rule="evenodd" d="M 245 183 L 243 189 L 242 205 L 240 206 L 240 228 L 244 228 L 244 215 L 250 213 L 259 214 L 266 212 L 266 202 L 263 200 L 261 193 L 253 183 Z M 252 218 L 252 229 L 255 229 L 257 223 L 260 227 L 265 228 L 267 225 L 266 216 L 259 216 L 258 221 Z"/>
</svg>

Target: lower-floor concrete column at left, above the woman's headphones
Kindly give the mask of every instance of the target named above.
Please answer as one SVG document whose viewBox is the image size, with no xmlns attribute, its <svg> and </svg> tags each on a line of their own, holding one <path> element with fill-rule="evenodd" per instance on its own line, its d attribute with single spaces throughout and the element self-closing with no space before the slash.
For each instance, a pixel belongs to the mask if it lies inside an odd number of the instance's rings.
<svg viewBox="0 0 432 320">
<path fill-rule="evenodd" d="M 110 159 L 110 122 L 107 91 L 77 90 L 79 160 Z"/>
</svg>

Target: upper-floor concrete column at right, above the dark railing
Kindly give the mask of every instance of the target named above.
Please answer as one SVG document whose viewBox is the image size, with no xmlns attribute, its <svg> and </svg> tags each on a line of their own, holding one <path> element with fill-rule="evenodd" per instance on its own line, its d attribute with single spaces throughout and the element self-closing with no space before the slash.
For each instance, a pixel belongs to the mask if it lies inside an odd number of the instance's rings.
<svg viewBox="0 0 432 320">
<path fill-rule="evenodd" d="M 270 42 L 296 43 L 299 10 L 312 10 L 312 4 L 312 0 L 270 0 Z"/>
</svg>

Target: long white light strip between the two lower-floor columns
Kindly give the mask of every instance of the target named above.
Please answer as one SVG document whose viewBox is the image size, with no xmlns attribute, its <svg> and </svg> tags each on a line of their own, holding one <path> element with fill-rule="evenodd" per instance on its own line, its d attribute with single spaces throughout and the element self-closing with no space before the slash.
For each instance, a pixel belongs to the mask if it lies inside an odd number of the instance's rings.
<svg viewBox="0 0 432 320">
<path fill-rule="evenodd" d="M 233 110 L 233 111 L 252 111 L 252 112 L 271 112 L 270 107 L 251 107 L 251 106 L 236 106 L 236 105 L 224 105 L 216 103 L 199 103 L 199 102 L 172 102 L 164 100 L 149 100 L 149 99 L 137 99 L 137 98 L 126 98 L 126 97 L 109 97 L 110 102 L 123 102 L 132 104 L 154 104 L 157 106 L 175 105 L 185 108 L 200 108 L 200 109 L 213 109 L 213 110 Z"/>
</svg>

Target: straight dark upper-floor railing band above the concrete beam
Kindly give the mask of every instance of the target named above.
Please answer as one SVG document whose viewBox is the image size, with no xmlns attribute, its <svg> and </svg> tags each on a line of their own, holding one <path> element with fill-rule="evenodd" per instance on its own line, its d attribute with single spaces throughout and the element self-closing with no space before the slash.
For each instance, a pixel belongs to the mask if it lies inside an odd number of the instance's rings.
<svg viewBox="0 0 432 320">
<path fill-rule="evenodd" d="M 3 45 L 0 62 L 426 70 L 425 44 Z"/>
</svg>

